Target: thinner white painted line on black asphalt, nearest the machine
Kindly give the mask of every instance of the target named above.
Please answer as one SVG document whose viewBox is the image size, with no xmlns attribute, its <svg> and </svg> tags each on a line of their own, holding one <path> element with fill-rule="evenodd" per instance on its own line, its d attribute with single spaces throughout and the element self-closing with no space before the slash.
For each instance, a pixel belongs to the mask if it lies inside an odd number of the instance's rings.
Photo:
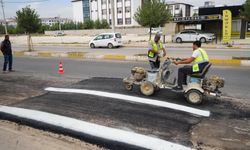
<svg viewBox="0 0 250 150">
<path fill-rule="evenodd" d="M 108 97 L 108 98 L 114 98 L 114 99 L 119 99 L 119 100 L 130 101 L 130 102 L 154 105 L 158 107 L 170 108 L 170 109 L 188 112 L 191 114 L 204 116 L 204 117 L 210 116 L 210 111 L 200 110 L 200 109 L 196 109 L 192 107 L 182 106 L 182 105 L 169 103 L 169 102 L 163 102 L 159 100 L 140 98 L 140 97 L 123 95 L 123 94 L 115 94 L 115 93 L 108 93 L 108 92 L 101 92 L 101 91 L 94 91 L 94 90 L 66 89 L 66 88 L 53 88 L 53 87 L 46 88 L 45 90 L 51 91 L 51 92 L 77 93 L 77 94 L 88 94 L 88 95 L 95 95 L 95 96 L 101 96 L 101 97 Z"/>
</svg>

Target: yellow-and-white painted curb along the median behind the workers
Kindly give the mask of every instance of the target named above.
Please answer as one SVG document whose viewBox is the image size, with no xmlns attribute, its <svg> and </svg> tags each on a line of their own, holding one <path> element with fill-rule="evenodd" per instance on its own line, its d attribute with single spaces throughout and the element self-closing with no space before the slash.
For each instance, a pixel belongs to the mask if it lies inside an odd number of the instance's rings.
<svg viewBox="0 0 250 150">
<path fill-rule="evenodd" d="M 1 54 L 2 55 L 2 54 Z M 69 59 L 88 59 L 88 60 L 115 60 L 115 61 L 138 61 L 147 62 L 147 56 L 125 56 L 114 54 L 93 54 L 84 52 L 24 52 L 14 51 L 14 56 L 29 56 L 43 58 L 69 58 Z M 211 59 L 214 65 L 233 65 L 233 66 L 250 66 L 250 60 L 239 59 Z"/>
</svg>

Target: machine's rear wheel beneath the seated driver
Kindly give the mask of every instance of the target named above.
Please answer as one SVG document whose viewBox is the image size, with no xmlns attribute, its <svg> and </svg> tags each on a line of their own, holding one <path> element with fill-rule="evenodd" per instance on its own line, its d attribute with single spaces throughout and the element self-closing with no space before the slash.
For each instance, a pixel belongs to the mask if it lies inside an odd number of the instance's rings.
<svg viewBox="0 0 250 150">
<path fill-rule="evenodd" d="M 194 105 L 199 105 L 202 103 L 203 100 L 203 94 L 198 90 L 189 90 L 186 93 L 186 99 L 189 103 Z"/>
</svg>

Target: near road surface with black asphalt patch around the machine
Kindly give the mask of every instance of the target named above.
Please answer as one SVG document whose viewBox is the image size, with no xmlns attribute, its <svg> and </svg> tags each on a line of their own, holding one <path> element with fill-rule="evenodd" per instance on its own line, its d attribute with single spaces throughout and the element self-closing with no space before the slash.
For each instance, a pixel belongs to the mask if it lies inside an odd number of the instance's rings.
<svg viewBox="0 0 250 150">
<path fill-rule="evenodd" d="M 67 59 L 63 61 L 65 74 L 58 75 L 58 62 L 57 59 L 15 58 L 16 72 L 0 75 L 0 84 L 3 87 L 0 90 L 1 97 L 6 95 L 4 89 L 12 85 L 16 95 L 24 95 L 20 94 L 20 90 L 22 93 L 27 93 L 23 100 L 9 103 L 9 106 L 72 117 L 157 137 L 188 147 L 249 149 L 250 110 L 249 106 L 242 103 L 248 103 L 250 99 L 249 68 L 213 67 L 209 74 L 217 74 L 226 79 L 223 94 L 232 99 L 211 98 L 207 99 L 202 106 L 192 106 L 185 102 L 182 95 L 169 90 L 162 90 L 153 97 L 142 96 L 137 88 L 131 92 L 124 90 L 121 79 L 129 75 L 133 66 L 148 67 L 145 63 Z M 71 82 L 72 79 L 74 82 Z M 209 110 L 211 116 L 207 118 L 180 110 L 127 102 L 117 98 L 44 91 L 48 86 L 97 90 L 130 95 L 135 98 L 154 99 Z M 30 94 L 31 92 L 33 93 Z M 77 137 L 74 134 L 72 136 Z M 81 138 L 89 140 L 88 137 Z M 109 145 L 108 148 L 114 149 Z"/>
</svg>

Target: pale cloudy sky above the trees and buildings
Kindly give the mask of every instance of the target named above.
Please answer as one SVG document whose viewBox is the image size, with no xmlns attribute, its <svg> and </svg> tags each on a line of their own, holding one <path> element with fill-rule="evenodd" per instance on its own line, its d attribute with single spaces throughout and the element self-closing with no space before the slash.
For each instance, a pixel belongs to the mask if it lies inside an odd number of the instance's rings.
<svg viewBox="0 0 250 150">
<path fill-rule="evenodd" d="M 67 17 L 72 18 L 71 0 L 3 0 L 5 2 L 5 13 L 7 17 L 15 16 L 17 10 L 30 5 L 36 9 L 41 17 Z M 39 1 L 39 2 L 38 2 Z M 43 1 L 43 2 L 42 2 Z M 136 0 L 135 0 L 136 1 Z M 202 6 L 206 0 L 169 0 L 189 3 L 194 6 Z M 216 5 L 239 5 L 245 0 L 214 0 Z M 32 3 L 29 3 L 32 2 Z M 2 18 L 2 11 L 0 13 Z"/>
</svg>

